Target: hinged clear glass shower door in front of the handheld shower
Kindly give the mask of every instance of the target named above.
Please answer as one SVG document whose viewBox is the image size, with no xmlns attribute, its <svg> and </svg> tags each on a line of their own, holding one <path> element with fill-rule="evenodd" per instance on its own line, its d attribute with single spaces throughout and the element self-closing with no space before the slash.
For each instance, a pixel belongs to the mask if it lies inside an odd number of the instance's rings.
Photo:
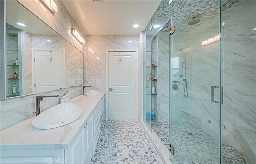
<svg viewBox="0 0 256 164">
<path fill-rule="evenodd" d="M 220 163 L 219 1 L 171 5 L 170 159 Z"/>
</svg>

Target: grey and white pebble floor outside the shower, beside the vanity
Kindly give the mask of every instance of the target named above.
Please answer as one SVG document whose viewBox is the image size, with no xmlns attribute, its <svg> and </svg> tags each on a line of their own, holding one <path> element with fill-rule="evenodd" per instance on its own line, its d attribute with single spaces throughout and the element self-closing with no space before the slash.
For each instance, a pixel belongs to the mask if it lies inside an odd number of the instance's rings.
<svg viewBox="0 0 256 164">
<path fill-rule="evenodd" d="M 103 121 L 91 164 L 162 164 L 138 121 Z"/>
</svg>

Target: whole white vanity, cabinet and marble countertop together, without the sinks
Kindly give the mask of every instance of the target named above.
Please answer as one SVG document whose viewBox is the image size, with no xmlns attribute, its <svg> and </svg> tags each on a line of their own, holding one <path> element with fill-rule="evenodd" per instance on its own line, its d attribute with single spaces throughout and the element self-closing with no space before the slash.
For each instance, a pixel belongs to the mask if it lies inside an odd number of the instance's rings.
<svg viewBox="0 0 256 164">
<path fill-rule="evenodd" d="M 55 129 L 33 127 L 33 118 L 1 131 L 1 164 L 88 164 L 94 155 L 105 108 L 104 97 L 80 95 L 76 121 Z"/>
</svg>

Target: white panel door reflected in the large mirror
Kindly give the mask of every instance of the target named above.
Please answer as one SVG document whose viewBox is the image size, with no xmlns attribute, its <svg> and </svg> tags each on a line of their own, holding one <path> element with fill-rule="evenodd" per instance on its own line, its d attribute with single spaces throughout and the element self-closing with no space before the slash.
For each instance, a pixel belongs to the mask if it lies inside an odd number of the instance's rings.
<svg viewBox="0 0 256 164">
<path fill-rule="evenodd" d="M 36 93 L 64 86 L 64 52 L 35 51 Z"/>
</svg>

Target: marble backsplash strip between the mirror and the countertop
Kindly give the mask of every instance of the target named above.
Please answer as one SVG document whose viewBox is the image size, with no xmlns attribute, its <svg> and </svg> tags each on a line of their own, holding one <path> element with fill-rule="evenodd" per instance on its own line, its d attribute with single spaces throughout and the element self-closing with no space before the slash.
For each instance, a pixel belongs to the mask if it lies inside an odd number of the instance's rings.
<svg viewBox="0 0 256 164">
<path fill-rule="evenodd" d="M 75 98 L 82 94 L 82 87 L 72 87 L 68 88 L 70 92 L 70 99 Z M 45 92 L 43 94 L 34 94 L 30 96 L 23 96 L 21 98 L 12 98 L 5 101 L 1 101 L 0 107 L 0 129 L 6 129 L 20 121 L 28 119 L 34 116 L 34 111 L 36 110 L 36 96 L 39 95 L 60 95 L 63 96 L 66 93 L 65 89 L 55 90 L 50 92 Z M 58 98 L 44 98 L 41 102 L 41 109 L 45 111 L 46 109 L 57 105 L 60 103 L 60 97 Z M 41 112 L 42 112 L 41 111 Z"/>
</svg>

